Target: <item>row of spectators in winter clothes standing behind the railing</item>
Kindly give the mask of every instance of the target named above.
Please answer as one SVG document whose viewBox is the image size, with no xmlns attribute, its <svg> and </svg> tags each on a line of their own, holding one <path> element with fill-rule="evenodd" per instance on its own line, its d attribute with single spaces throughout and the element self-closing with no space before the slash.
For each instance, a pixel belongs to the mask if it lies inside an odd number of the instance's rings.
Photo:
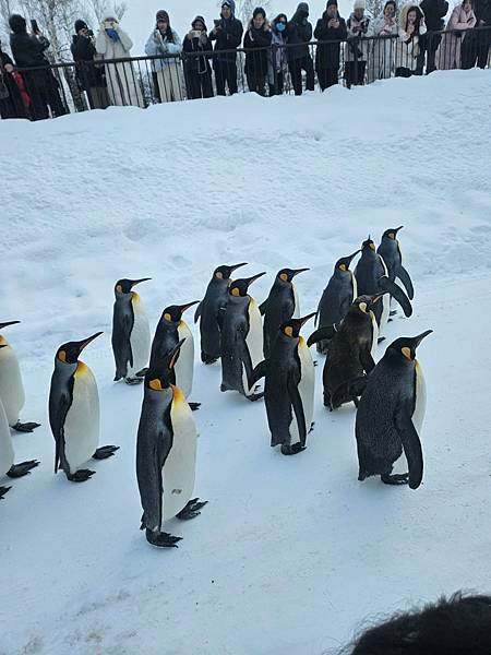
<svg viewBox="0 0 491 655">
<path fill-rule="evenodd" d="M 304 88 L 313 91 L 315 75 L 325 91 L 337 84 L 340 75 L 349 88 L 392 75 L 422 74 L 424 67 L 427 73 L 476 64 L 486 68 L 491 0 L 462 0 L 445 25 L 447 13 L 446 0 L 422 0 L 402 8 L 396 0 L 387 0 L 382 13 L 372 17 L 364 0 L 355 0 L 345 20 L 337 0 L 327 0 L 313 29 L 309 4 L 300 2 L 290 20 L 279 13 L 268 21 L 264 9 L 258 7 L 244 29 L 235 15 L 235 1 L 224 0 L 212 29 L 199 15 L 181 39 L 168 12 L 160 10 L 145 45 L 152 58 L 153 95 L 165 103 L 237 93 L 241 46 L 249 91 L 262 96 L 284 93 L 287 80 L 296 95 Z M 97 35 L 82 20 L 74 27 L 71 51 L 76 81 L 89 107 L 144 107 L 142 79 L 130 60 L 133 43 L 119 21 L 106 16 Z M 10 17 L 10 28 L 14 61 L 0 44 L 0 116 L 38 120 L 64 114 L 59 78 L 46 55 L 49 41 L 37 25 L 28 33 L 21 15 Z M 312 38 L 318 41 L 314 58 Z"/>
</svg>

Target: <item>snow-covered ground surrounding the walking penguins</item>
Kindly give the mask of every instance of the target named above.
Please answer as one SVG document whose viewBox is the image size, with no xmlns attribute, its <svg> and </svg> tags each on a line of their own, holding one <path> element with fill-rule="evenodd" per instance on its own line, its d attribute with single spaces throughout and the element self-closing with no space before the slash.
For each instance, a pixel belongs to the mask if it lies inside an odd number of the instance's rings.
<svg viewBox="0 0 491 655">
<path fill-rule="evenodd" d="M 43 422 L 14 436 L 16 461 L 41 464 L 0 503 L 1 655 L 321 655 L 380 615 L 490 591 L 490 71 L 457 71 L 0 122 L 1 320 L 22 320 L 5 335 L 23 418 Z M 324 410 L 316 354 L 315 429 L 292 458 L 268 446 L 263 403 L 220 394 L 219 365 L 196 361 L 209 504 L 169 525 L 179 549 L 151 548 L 134 474 L 142 389 L 112 383 L 116 279 L 153 277 L 141 294 L 155 324 L 201 298 L 217 264 L 267 271 L 260 300 L 278 269 L 310 266 L 307 313 L 338 257 L 397 225 L 416 301 L 387 338 L 434 330 L 419 352 L 421 488 L 357 481 L 355 410 Z M 61 343 L 98 330 L 84 359 L 101 443 L 121 450 L 77 486 L 52 474 L 49 378 Z"/>
</svg>

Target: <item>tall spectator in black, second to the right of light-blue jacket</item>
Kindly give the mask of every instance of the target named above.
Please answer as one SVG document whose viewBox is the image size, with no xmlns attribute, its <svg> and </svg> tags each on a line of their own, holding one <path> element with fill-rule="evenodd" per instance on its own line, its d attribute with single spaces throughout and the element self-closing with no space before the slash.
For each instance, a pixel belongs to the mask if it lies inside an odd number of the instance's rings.
<svg viewBox="0 0 491 655">
<path fill-rule="evenodd" d="M 209 34 L 211 40 L 216 40 L 213 57 L 213 69 L 215 71 L 216 93 L 225 95 L 225 85 L 228 93 L 237 93 L 237 50 L 242 41 L 242 23 L 235 16 L 235 0 L 224 0 L 219 20 L 215 21 L 215 27 Z"/>
</svg>

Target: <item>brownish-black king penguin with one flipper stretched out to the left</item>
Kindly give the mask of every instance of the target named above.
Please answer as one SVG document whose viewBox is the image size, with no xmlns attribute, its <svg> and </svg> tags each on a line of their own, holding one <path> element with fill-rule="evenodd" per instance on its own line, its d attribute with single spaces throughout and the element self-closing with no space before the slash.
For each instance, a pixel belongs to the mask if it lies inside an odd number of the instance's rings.
<svg viewBox="0 0 491 655">
<path fill-rule="evenodd" d="M 360 296 L 338 327 L 320 327 L 307 342 L 311 346 L 331 338 L 323 371 L 324 405 L 331 410 L 351 401 L 358 405 L 366 376 L 375 368 L 373 357 L 379 341 L 379 325 L 373 307 L 381 298 L 382 295 Z"/>
</svg>

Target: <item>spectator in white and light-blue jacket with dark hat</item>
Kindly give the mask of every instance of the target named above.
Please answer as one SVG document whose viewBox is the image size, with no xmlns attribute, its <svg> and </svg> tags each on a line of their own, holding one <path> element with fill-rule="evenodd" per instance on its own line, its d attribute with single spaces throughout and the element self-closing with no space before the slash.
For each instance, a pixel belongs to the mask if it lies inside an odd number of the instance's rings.
<svg viewBox="0 0 491 655">
<path fill-rule="evenodd" d="M 149 56 L 160 55 L 161 59 L 152 61 L 152 68 L 157 73 L 158 90 L 161 103 L 182 100 L 182 70 L 181 61 L 177 57 L 165 55 L 180 55 L 182 43 L 178 33 L 171 28 L 169 14 L 160 9 L 155 16 L 155 29 L 145 45 L 145 52 Z"/>
</svg>

